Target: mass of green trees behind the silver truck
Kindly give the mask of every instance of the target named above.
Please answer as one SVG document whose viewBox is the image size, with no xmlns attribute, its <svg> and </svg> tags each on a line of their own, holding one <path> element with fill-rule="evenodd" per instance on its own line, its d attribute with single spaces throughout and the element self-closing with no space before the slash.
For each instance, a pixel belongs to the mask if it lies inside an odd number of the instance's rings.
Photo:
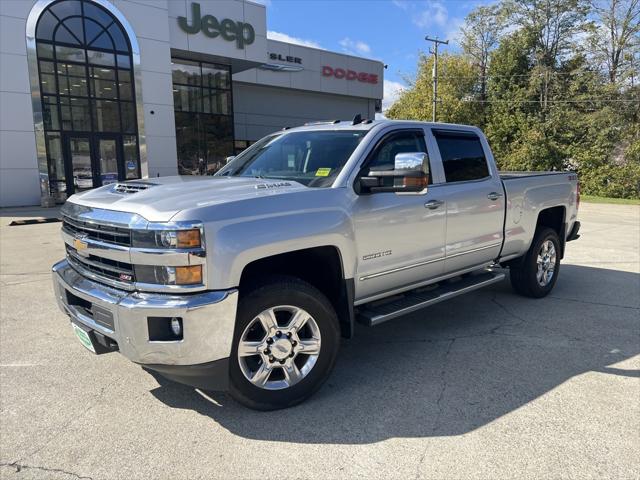
<svg viewBox="0 0 640 480">
<path fill-rule="evenodd" d="M 545 5 L 503 0 L 470 14 L 464 52 L 439 57 L 438 121 L 481 126 L 500 169 L 574 170 L 584 194 L 640 198 L 640 72 L 613 81 L 611 65 L 589 50 L 593 42 L 573 40 L 592 31 L 585 19 L 596 10 L 578 0 Z M 486 49 L 485 26 L 505 18 L 516 28 Z M 634 48 L 629 43 L 621 55 L 633 60 Z M 389 118 L 431 120 L 432 67 L 433 58 L 421 56 Z"/>
</svg>

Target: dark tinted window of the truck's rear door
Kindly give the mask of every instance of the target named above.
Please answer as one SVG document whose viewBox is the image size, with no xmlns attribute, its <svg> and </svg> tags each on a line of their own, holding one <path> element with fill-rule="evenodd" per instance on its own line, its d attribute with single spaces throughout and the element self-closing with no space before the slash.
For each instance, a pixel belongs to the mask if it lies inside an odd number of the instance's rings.
<svg viewBox="0 0 640 480">
<path fill-rule="evenodd" d="M 473 134 L 434 131 L 447 183 L 480 180 L 489 166 L 480 139 Z"/>
</svg>

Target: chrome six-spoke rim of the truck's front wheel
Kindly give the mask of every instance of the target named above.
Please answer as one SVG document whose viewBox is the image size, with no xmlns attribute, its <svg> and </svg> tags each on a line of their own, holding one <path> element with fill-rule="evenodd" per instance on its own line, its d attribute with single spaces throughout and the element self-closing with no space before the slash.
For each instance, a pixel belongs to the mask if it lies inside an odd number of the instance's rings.
<svg viewBox="0 0 640 480">
<path fill-rule="evenodd" d="M 280 305 L 260 312 L 238 343 L 240 370 L 265 390 L 282 390 L 303 380 L 320 355 L 320 328 L 299 307 Z"/>
</svg>

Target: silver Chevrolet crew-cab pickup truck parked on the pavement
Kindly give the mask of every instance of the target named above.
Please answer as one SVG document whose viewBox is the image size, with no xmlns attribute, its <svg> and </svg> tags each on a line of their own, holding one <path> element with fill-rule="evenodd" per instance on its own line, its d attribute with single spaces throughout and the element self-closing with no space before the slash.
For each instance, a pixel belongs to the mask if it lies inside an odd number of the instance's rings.
<svg viewBox="0 0 640 480">
<path fill-rule="evenodd" d="M 316 391 L 340 338 L 500 282 L 544 297 L 578 238 L 574 173 L 500 174 L 482 132 L 324 122 L 215 176 L 72 196 L 60 308 L 95 353 L 252 408 Z"/>
</svg>

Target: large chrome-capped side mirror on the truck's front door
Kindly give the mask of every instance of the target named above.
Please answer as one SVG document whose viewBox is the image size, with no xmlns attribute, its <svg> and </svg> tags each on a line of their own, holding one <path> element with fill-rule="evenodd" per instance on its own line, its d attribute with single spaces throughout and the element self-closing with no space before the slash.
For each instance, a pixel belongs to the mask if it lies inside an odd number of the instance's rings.
<svg viewBox="0 0 640 480">
<path fill-rule="evenodd" d="M 429 183 L 426 153 L 398 153 L 393 170 L 370 170 L 359 179 L 359 193 L 422 192 Z"/>
</svg>

